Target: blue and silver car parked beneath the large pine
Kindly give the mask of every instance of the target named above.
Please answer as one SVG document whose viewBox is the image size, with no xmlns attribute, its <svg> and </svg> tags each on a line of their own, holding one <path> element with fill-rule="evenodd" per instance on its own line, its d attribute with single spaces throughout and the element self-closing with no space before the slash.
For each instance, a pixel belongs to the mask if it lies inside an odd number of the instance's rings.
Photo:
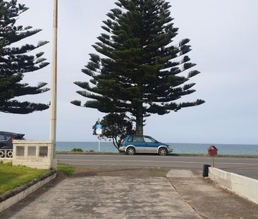
<svg viewBox="0 0 258 219">
<path fill-rule="evenodd" d="M 158 142 L 153 137 L 147 135 L 128 135 L 121 142 L 119 151 L 125 152 L 128 155 L 135 153 L 158 153 L 161 156 L 166 156 L 173 149 L 170 145 Z"/>
</svg>

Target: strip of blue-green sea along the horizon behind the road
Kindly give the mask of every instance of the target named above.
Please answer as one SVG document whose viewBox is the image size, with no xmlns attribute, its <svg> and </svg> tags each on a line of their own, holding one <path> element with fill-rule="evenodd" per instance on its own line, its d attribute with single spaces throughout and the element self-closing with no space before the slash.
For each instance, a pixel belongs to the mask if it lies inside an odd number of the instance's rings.
<svg viewBox="0 0 258 219">
<path fill-rule="evenodd" d="M 176 154 L 207 154 L 210 144 L 168 143 L 173 146 Z M 257 144 L 214 144 L 219 149 L 218 154 L 228 155 L 258 155 Z M 83 151 L 99 151 L 98 142 L 56 142 L 56 151 L 70 151 L 80 148 Z M 112 142 L 101 142 L 100 151 L 118 152 Z"/>
</svg>

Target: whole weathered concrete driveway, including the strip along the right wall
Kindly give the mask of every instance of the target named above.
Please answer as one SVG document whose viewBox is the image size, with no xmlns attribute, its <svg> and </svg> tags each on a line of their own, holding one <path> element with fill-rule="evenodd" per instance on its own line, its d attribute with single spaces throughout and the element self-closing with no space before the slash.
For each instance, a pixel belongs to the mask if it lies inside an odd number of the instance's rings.
<svg viewBox="0 0 258 219">
<path fill-rule="evenodd" d="M 1 219 L 254 219 L 258 206 L 190 170 L 85 167 L 0 213 Z"/>
</svg>

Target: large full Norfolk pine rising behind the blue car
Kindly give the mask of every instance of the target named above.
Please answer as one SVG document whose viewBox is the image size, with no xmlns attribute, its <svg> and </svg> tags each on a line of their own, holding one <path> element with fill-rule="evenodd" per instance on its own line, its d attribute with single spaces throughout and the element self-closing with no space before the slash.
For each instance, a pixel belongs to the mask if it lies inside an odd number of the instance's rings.
<svg viewBox="0 0 258 219">
<path fill-rule="evenodd" d="M 89 82 L 75 82 L 89 99 L 85 107 L 104 113 L 133 115 L 137 134 L 143 134 L 144 118 L 151 113 L 164 115 L 204 101 L 178 103 L 182 96 L 195 92 L 191 77 L 199 74 L 185 56 L 191 49 L 189 39 L 173 43 L 178 28 L 173 27 L 170 5 L 163 0 L 118 0 L 104 21 L 99 42 L 90 54 L 83 73 Z M 181 74 L 182 73 L 182 74 Z M 72 101 L 80 106 L 80 101 Z"/>
</svg>

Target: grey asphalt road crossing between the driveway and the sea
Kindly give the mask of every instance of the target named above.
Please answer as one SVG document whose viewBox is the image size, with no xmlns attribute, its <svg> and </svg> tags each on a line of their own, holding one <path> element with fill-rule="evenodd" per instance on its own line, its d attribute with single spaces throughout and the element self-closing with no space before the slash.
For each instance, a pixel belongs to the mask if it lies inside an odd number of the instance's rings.
<svg viewBox="0 0 258 219">
<path fill-rule="evenodd" d="M 61 163 L 70 165 L 115 165 L 154 168 L 178 168 L 202 173 L 204 163 L 211 165 L 210 157 L 203 156 L 157 156 L 157 155 L 70 155 L 58 154 Z M 258 158 L 216 157 L 214 167 L 258 180 Z"/>
</svg>

